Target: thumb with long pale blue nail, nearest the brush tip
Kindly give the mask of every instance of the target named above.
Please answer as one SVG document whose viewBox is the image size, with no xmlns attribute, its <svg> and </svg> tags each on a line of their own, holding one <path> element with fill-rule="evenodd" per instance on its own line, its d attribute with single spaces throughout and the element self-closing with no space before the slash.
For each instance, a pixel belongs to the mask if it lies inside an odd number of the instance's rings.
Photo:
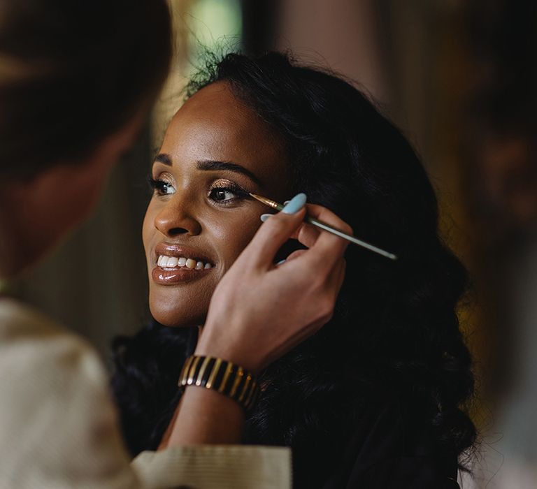
<svg viewBox="0 0 537 489">
<path fill-rule="evenodd" d="M 281 212 L 273 214 L 259 228 L 243 256 L 254 265 L 271 267 L 278 249 L 300 226 L 306 215 L 306 194 L 297 194 L 285 205 Z"/>
</svg>

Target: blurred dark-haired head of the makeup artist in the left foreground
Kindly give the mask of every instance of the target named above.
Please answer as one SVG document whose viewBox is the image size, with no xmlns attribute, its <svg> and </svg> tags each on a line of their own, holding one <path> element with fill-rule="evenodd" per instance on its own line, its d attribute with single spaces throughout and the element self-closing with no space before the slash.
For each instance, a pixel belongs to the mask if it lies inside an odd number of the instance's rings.
<svg viewBox="0 0 537 489">
<path fill-rule="evenodd" d="M 0 275 L 92 209 L 170 57 L 164 0 L 0 0 Z"/>
</svg>

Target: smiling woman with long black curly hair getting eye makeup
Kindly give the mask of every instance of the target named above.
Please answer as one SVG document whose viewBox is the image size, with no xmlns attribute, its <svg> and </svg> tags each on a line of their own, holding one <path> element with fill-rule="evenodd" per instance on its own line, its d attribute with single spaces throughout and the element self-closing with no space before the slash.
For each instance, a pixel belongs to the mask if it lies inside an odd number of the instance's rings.
<svg viewBox="0 0 537 489">
<path fill-rule="evenodd" d="M 438 236 L 436 197 L 408 141 L 348 82 L 284 54 L 229 54 L 187 94 L 152 168 L 143 229 L 155 321 L 115 341 L 131 453 L 168 442 L 196 326 L 266 212 L 244 190 L 278 201 L 301 191 L 399 259 L 348 247 L 334 315 L 258 372 L 243 441 L 292 447 L 299 488 L 457 487 L 476 435 L 461 408 L 473 393 L 456 313 L 466 272 Z M 297 243 L 276 266 L 292 265 Z"/>
</svg>

